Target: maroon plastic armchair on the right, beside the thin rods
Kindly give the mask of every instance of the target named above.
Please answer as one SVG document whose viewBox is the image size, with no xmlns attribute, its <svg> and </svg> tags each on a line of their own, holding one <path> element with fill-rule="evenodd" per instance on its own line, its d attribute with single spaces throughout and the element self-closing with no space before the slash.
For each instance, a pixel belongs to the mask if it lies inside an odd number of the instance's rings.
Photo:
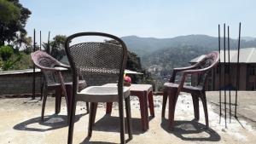
<svg viewBox="0 0 256 144">
<path fill-rule="evenodd" d="M 209 127 L 205 83 L 208 72 L 210 72 L 210 70 L 214 66 L 217 66 L 218 60 L 218 52 L 212 52 L 208 55 L 205 55 L 199 62 L 195 63 L 195 65 L 193 66 L 173 69 L 172 78 L 170 78 L 169 83 L 164 84 L 162 105 L 162 117 L 164 118 L 166 112 L 166 101 L 167 97 L 169 97 L 169 129 L 172 130 L 177 97 L 180 92 L 186 92 L 191 94 L 194 105 L 195 120 L 199 120 L 199 98 L 201 98 L 205 112 L 206 126 L 207 128 Z M 182 73 L 182 78 L 179 84 L 174 83 L 177 72 Z M 184 85 L 185 79 L 189 75 L 197 76 L 197 84 L 195 86 Z"/>
</svg>

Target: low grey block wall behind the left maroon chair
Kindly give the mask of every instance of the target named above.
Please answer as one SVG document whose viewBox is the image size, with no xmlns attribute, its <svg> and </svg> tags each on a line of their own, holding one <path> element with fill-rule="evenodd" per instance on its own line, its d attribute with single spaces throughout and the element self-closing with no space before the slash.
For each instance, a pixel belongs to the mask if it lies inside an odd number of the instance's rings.
<svg viewBox="0 0 256 144">
<path fill-rule="evenodd" d="M 44 80 L 39 69 L 36 69 L 36 93 L 40 92 L 41 82 Z M 66 82 L 72 81 L 70 71 L 63 70 L 61 74 Z M 0 72 L 0 95 L 32 94 L 32 69 Z M 116 83 L 117 79 L 106 76 L 84 76 L 88 85 L 102 85 Z"/>
</svg>

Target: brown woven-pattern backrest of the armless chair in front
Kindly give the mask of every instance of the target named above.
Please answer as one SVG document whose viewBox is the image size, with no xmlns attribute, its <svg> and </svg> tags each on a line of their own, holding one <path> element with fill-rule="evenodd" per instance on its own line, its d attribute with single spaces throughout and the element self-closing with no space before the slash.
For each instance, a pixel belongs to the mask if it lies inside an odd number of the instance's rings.
<svg viewBox="0 0 256 144">
<path fill-rule="evenodd" d="M 112 38 L 112 42 L 85 42 L 70 45 L 75 37 Z M 123 81 L 123 72 L 127 59 L 125 43 L 113 35 L 100 32 L 81 32 L 67 37 L 65 49 L 73 74 L 93 78 L 94 84 L 119 83 Z M 121 73 L 120 73 L 121 72 Z M 73 77 L 74 78 L 74 77 Z M 97 81 L 97 82 L 96 82 Z M 90 84 L 87 81 L 88 85 Z"/>
</svg>

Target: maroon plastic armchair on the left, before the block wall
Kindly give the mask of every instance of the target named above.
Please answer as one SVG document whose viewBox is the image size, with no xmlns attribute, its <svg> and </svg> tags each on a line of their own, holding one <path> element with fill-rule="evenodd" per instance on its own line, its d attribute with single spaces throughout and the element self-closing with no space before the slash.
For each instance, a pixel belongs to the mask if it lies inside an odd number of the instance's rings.
<svg viewBox="0 0 256 144">
<path fill-rule="evenodd" d="M 44 51 L 38 50 L 31 54 L 32 61 L 41 72 L 44 74 L 44 95 L 42 104 L 41 120 L 44 120 L 44 108 L 49 91 L 55 90 L 55 113 L 61 111 L 61 95 L 64 95 L 67 102 L 67 115 L 70 113 L 70 99 L 72 97 L 73 83 L 65 83 L 61 75 L 61 69 L 58 67 L 70 68 L 70 66 L 64 65 L 58 60 L 55 60 L 52 56 L 48 55 Z M 68 88 L 68 90 L 66 89 Z M 86 88 L 84 80 L 79 80 L 79 90 Z M 89 103 L 86 102 L 87 112 L 89 111 Z"/>
</svg>

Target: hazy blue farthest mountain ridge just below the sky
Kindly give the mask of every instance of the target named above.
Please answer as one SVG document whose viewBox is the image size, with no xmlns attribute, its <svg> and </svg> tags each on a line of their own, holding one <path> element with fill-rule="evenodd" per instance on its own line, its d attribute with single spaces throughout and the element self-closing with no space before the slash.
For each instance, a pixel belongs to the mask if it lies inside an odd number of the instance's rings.
<svg viewBox="0 0 256 144">
<path fill-rule="evenodd" d="M 181 48 L 185 45 L 209 50 L 218 50 L 218 37 L 207 35 L 188 35 L 173 38 L 154 38 L 154 37 L 121 37 L 131 51 L 139 56 L 148 55 L 160 49 Z M 221 38 L 223 44 L 223 38 Z M 241 48 L 256 47 L 256 38 L 242 37 Z M 237 40 L 230 39 L 230 48 L 237 48 Z"/>
</svg>

